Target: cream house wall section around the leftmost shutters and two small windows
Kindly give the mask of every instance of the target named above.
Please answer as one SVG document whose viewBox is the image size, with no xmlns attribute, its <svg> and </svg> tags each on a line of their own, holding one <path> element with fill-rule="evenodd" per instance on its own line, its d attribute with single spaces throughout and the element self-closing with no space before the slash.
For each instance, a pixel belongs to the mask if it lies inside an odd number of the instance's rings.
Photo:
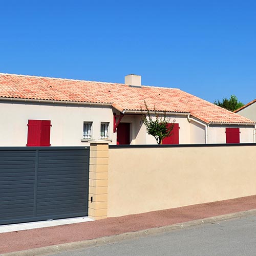
<svg viewBox="0 0 256 256">
<path fill-rule="evenodd" d="M 25 146 L 29 119 L 51 120 L 52 146 L 89 145 L 81 142 L 84 121 L 93 122 L 92 139 L 95 140 L 100 139 L 100 122 L 110 122 L 110 139 L 113 140 L 112 144 L 116 144 L 111 107 L 0 103 L 0 110 L 1 146 Z"/>
</svg>

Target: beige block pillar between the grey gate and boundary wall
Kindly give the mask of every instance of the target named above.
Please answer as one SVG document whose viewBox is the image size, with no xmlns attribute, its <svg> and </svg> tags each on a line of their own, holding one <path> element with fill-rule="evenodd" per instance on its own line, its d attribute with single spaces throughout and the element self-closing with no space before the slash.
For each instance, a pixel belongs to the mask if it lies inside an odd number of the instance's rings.
<svg viewBox="0 0 256 256">
<path fill-rule="evenodd" d="M 92 141 L 90 144 L 89 217 L 107 217 L 108 210 L 109 143 Z"/>
</svg>

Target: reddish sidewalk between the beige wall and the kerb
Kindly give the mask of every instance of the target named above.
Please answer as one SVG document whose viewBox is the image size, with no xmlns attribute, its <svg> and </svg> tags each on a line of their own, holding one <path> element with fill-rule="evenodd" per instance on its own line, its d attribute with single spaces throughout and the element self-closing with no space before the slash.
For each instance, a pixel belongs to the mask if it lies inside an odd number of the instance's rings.
<svg viewBox="0 0 256 256">
<path fill-rule="evenodd" d="M 0 233 L 0 253 L 87 241 L 256 209 L 256 196 L 185 206 L 144 214 Z M 242 216 L 243 214 L 237 215 Z M 236 215 L 232 215 L 236 217 Z M 213 221 L 213 220 L 212 220 Z M 18 252 L 17 252 L 18 255 Z"/>
</svg>

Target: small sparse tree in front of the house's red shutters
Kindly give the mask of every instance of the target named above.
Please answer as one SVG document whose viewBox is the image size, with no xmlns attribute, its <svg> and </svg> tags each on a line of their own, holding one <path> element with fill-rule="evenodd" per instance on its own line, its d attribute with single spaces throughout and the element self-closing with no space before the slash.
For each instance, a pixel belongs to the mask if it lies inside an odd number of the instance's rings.
<svg viewBox="0 0 256 256">
<path fill-rule="evenodd" d="M 152 135 L 158 144 L 162 144 L 164 138 L 171 135 L 173 128 L 174 128 L 174 121 L 170 123 L 170 118 L 166 117 L 166 111 L 163 112 L 161 115 L 159 112 L 156 111 L 156 106 L 154 106 L 155 112 L 155 120 L 151 116 L 150 110 L 146 102 L 144 101 L 146 114 L 143 114 L 142 107 L 140 106 L 140 110 L 142 112 L 142 122 L 146 126 L 146 131 L 149 135 Z"/>
</svg>

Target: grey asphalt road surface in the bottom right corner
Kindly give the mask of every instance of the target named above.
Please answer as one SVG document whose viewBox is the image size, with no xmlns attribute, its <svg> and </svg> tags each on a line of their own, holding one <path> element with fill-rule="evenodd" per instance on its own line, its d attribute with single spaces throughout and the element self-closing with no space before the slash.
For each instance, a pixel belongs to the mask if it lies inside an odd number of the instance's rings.
<svg viewBox="0 0 256 256">
<path fill-rule="evenodd" d="M 255 256 L 256 216 L 51 255 Z"/>
</svg>

